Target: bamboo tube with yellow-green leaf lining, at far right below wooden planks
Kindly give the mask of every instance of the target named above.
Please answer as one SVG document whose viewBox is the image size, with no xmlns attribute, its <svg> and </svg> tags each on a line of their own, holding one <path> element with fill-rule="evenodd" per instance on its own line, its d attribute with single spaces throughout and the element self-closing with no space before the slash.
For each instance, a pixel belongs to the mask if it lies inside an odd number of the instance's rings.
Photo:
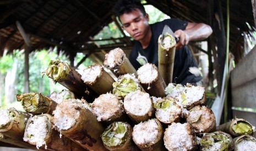
<svg viewBox="0 0 256 151">
<path fill-rule="evenodd" d="M 237 137 L 240 135 L 255 135 L 255 127 L 244 119 L 232 119 L 230 122 L 216 127 L 218 131 L 230 133 L 231 136 Z"/>
</svg>

